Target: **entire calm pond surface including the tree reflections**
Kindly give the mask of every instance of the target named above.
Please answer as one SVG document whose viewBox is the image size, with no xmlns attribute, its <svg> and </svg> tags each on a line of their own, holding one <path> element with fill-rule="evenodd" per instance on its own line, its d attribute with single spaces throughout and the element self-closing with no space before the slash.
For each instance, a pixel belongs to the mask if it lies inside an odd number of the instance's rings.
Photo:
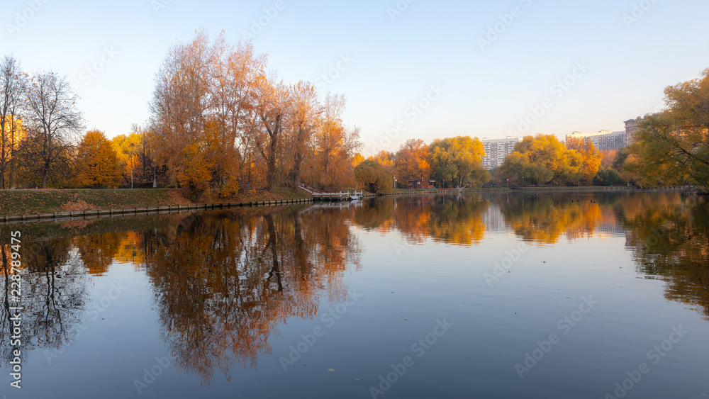
<svg viewBox="0 0 709 399">
<path fill-rule="evenodd" d="M 703 198 L 412 196 L 4 225 L 3 265 L 15 230 L 7 399 L 709 395 Z"/>
</svg>

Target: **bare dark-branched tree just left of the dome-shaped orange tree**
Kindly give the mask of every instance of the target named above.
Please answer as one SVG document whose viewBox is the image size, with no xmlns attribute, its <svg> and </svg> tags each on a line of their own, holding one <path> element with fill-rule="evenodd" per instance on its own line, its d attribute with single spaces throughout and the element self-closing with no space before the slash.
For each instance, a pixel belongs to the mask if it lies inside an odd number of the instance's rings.
<svg viewBox="0 0 709 399">
<path fill-rule="evenodd" d="M 37 145 L 28 150 L 32 152 L 30 158 L 39 163 L 43 189 L 50 173 L 69 157 L 83 128 L 77 99 L 67 78 L 55 72 L 40 72 L 31 80 L 27 94 L 29 134 Z"/>
</svg>

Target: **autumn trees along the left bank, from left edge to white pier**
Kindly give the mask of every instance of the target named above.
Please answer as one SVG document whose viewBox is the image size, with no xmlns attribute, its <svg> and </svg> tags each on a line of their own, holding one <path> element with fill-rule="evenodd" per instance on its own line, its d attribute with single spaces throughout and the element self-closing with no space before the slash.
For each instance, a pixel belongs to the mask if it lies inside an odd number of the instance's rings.
<svg viewBox="0 0 709 399">
<path fill-rule="evenodd" d="M 342 94 L 285 84 L 252 43 L 199 30 L 169 48 L 155 76 L 150 120 L 108 140 L 84 132 L 66 77 L 22 72 L 4 57 L 0 76 L 0 187 L 111 187 L 154 179 L 231 196 L 301 183 L 354 186 L 359 128 L 342 120 Z M 83 133 L 83 134 L 82 134 Z M 131 171 L 133 173 L 131 174 Z"/>
</svg>

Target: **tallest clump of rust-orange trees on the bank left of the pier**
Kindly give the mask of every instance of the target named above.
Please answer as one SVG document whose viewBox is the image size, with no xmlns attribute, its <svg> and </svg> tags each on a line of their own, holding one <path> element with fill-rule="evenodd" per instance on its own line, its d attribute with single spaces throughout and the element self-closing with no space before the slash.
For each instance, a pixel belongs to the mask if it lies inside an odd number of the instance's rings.
<svg viewBox="0 0 709 399">
<path fill-rule="evenodd" d="M 267 72 L 251 43 L 231 45 L 202 30 L 171 47 L 150 103 L 150 150 L 172 181 L 197 196 L 241 185 L 272 189 L 354 184 L 359 129 L 342 121 L 344 96 L 318 101 L 313 84 L 287 85 Z"/>
</svg>

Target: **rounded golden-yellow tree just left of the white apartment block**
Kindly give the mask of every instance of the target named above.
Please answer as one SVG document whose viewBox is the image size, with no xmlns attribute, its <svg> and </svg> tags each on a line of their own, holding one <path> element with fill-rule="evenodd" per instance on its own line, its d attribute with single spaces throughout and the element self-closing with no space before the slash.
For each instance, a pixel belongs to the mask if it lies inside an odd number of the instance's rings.
<svg viewBox="0 0 709 399">
<path fill-rule="evenodd" d="M 482 166 L 483 143 L 469 136 L 433 140 L 429 146 L 431 175 L 449 186 L 482 186 L 491 179 Z"/>
</svg>

